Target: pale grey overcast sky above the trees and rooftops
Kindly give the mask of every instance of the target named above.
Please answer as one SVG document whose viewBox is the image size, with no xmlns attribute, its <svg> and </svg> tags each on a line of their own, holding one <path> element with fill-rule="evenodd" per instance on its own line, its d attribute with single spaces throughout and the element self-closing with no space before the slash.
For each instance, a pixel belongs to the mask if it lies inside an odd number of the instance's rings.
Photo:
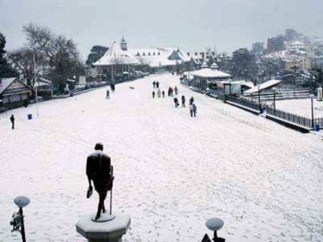
<svg viewBox="0 0 323 242">
<path fill-rule="evenodd" d="M 7 50 L 25 42 L 32 22 L 77 42 L 83 59 L 95 44 L 124 34 L 128 47 L 176 47 L 232 52 L 295 28 L 322 34 L 322 0 L 0 0 L 0 32 Z"/>
</svg>

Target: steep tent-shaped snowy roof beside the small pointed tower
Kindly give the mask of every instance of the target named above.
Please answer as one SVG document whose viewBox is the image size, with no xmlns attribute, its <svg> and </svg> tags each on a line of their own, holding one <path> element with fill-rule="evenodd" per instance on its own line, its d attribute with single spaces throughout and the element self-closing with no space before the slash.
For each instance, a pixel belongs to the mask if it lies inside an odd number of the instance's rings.
<svg viewBox="0 0 323 242">
<path fill-rule="evenodd" d="M 120 44 L 114 41 L 106 53 L 93 65 L 110 66 L 115 64 L 137 65 L 139 62 L 129 51 L 122 50 Z"/>
</svg>

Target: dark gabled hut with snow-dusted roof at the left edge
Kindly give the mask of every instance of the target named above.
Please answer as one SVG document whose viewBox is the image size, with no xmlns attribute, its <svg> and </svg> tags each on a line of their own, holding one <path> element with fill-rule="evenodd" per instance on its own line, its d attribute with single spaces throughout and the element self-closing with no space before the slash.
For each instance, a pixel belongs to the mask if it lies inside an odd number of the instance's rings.
<svg viewBox="0 0 323 242">
<path fill-rule="evenodd" d="M 2 108 L 23 106 L 31 94 L 31 88 L 15 77 L 0 79 L 0 105 Z"/>
</svg>

